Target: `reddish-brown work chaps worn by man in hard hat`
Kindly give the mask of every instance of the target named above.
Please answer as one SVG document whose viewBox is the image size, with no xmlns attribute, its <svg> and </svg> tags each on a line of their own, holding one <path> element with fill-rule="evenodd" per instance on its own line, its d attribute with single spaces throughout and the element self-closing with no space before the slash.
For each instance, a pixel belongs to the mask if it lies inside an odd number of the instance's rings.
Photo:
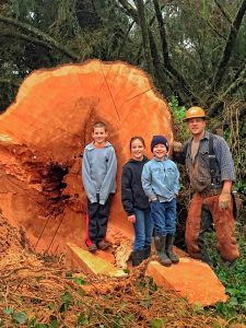
<svg viewBox="0 0 246 328">
<path fill-rule="evenodd" d="M 235 238 L 235 220 L 233 216 L 233 203 L 230 209 L 220 210 L 219 195 L 212 197 L 202 197 L 195 194 L 191 199 L 188 218 L 186 222 L 186 245 L 191 257 L 202 259 L 201 249 L 199 247 L 199 234 L 201 232 L 201 209 L 206 206 L 212 214 L 215 232 L 216 248 L 224 260 L 234 261 L 239 257 Z"/>
</svg>

